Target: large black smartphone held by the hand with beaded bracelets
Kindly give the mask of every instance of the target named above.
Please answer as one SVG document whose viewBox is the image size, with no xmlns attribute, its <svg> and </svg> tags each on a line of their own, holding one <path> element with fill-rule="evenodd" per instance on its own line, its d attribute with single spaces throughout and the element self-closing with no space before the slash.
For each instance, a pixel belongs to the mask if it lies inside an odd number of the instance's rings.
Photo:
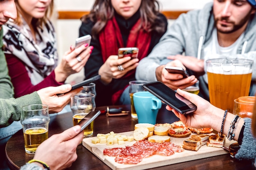
<svg viewBox="0 0 256 170">
<path fill-rule="evenodd" d="M 148 92 L 152 93 L 154 96 L 156 96 L 181 114 L 191 113 L 197 109 L 195 104 L 193 104 L 191 101 L 187 100 L 180 94 L 177 94 L 175 91 L 164 85 L 164 83 L 162 82 L 155 81 L 151 83 L 146 83 L 143 85 L 143 87 Z"/>
</svg>

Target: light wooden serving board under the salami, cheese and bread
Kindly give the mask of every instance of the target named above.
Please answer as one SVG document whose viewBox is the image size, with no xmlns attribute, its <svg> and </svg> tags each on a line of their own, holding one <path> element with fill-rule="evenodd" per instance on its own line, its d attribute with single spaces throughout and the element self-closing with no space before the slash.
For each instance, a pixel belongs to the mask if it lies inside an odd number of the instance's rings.
<svg viewBox="0 0 256 170">
<path fill-rule="evenodd" d="M 133 131 L 130 132 L 124 132 L 119 133 L 123 135 L 133 135 Z M 193 133 L 192 133 L 193 134 Z M 209 134 L 209 135 L 213 135 Z M 216 155 L 224 155 L 228 152 L 222 148 L 216 148 L 216 147 L 209 147 L 207 145 L 201 146 L 198 151 L 191 151 L 191 150 L 184 150 L 184 152 L 181 153 L 175 153 L 171 156 L 162 156 L 162 155 L 151 155 L 150 157 L 144 158 L 140 163 L 138 164 L 121 164 L 115 162 L 115 157 L 109 157 L 106 155 L 103 155 L 104 148 L 117 148 L 117 147 L 125 147 L 125 146 L 132 146 L 136 141 L 128 142 L 126 141 L 125 144 L 119 145 L 107 145 L 107 144 L 92 144 L 91 140 L 96 137 L 90 137 L 83 139 L 83 146 L 90 150 L 94 155 L 96 155 L 101 161 L 106 163 L 112 170 L 143 170 L 143 169 L 149 169 L 149 168 L 155 168 L 159 166 L 165 166 L 165 165 L 171 165 L 174 163 L 180 163 L 185 161 L 192 161 L 195 159 L 201 159 L 206 157 L 213 157 Z M 189 137 L 184 138 L 175 138 L 171 137 L 171 142 L 177 145 L 182 146 L 183 141 L 185 139 L 188 139 Z M 229 141 L 226 139 L 225 146 L 228 148 L 230 144 L 233 144 L 236 141 Z"/>
</svg>

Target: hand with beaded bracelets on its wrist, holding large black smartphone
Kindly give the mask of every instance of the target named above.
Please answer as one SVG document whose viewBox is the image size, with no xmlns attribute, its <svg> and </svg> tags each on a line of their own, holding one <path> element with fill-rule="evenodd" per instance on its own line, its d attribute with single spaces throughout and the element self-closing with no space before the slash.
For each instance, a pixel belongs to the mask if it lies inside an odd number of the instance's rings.
<svg viewBox="0 0 256 170">
<path fill-rule="evenodd" d="M 185 92 L 181 89 L 177 89 L 177 93 L 184 98 L 190 100 L 197 106 L 197 110 L 189 114 L 180 114 L 170 106 L 166 106 L 167 110 L 173 111 L 173 113 L 180 118 L 180 120 L 186 125 L 193 128 L 210 127 L 216 129 L 222 121 L 224 111 L 219 109 L 207 100 L 204 100 L 196 94 Z"/>
</svg>

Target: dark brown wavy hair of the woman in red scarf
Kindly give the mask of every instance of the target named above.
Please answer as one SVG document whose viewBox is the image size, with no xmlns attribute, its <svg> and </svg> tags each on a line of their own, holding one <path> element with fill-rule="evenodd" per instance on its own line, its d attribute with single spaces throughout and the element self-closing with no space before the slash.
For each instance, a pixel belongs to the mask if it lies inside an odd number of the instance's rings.
<svg viewBox="0 0 256 170">
<path fill-rule="evenodd" d="M 159 14 L 159 2 L 157 0 L 141 0 L 139 11 L 142 21 L 140 28 L 148 32 L 164 32 L 164 23 L 156 22 L 160 20 L 157 16 Z M 95 23 L 92 27 L 92 36 L 95 37 L 101 32 L 107 21 L 114 16 L 114 12 L 115 9 L 112 7 L 111 0 L 95 0 L 92 10 L 88 15 L 81 17 L 81 21 L 86 22 L 87 19 L 90 19 Z"/>
</svg>

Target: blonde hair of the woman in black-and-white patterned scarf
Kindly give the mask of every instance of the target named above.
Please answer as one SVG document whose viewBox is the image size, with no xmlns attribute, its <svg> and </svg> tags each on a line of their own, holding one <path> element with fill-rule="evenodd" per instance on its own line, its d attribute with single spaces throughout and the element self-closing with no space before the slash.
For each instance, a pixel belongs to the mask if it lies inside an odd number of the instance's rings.
<svg viewBox="0 0 256 170">
<path fill-rule="evenodd" d="M 20 16 L 21 15 L 20 14 L 20 4 L 19 4 L 18 0 L 14 0 L 14 2 L 16 4 L 16 8 L 17 8 L 17 18 L 16 18 L 16 20 L 14 20 L 14 22 L 20 26 L 20 25 L 22 25 L 22 19 Z M 45 12 L 44 17 L 32 19 L 32 25 L 33 26 L 42 26 L 42 24 L 45 23 L 49 19 L 49 17 L 52 16 L 53 9 L 54 9 L 54 0 L 51 1 L 48 9 Z"/>
</svg>

